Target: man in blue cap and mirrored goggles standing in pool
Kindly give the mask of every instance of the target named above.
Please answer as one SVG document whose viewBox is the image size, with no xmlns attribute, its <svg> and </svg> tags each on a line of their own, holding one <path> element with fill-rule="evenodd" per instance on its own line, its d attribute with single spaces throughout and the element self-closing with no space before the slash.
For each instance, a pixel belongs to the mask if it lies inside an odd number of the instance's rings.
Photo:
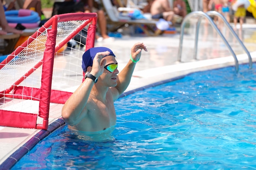
<svg viewBox="0 0 256 170">
<path fill-rule="evenodd" d="M 114 102 L 130 83 L 143 43 L 131 48 L 130 60 L 119 73 L 115 54 L 106 47 L 94 47 L 83 54 L 85 80 L 67 99 L 62 117 L 72 130 L 96 133 L 116 124 Z"/>
</svg>

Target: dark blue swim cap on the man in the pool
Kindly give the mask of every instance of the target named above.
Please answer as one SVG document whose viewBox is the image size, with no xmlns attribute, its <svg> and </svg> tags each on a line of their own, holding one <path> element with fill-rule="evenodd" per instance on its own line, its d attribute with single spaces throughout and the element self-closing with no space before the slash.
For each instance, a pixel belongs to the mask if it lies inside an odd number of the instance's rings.
<svg viewBox="0 0 256 170">
<path fill-rule="evenodd" d="M 89 50 L 85 51 L 85 53 L 83 53 L 83 60 L 82 60 L 83 71 L 86 72 L 87 67 L 92 66 L 92 61 L 97 53 L 105 52 L 105 51 L 109 51 L 110 52 L 109 55 L 116 57 L 115 54 L 110 49 L 108 49 L 106 47 L 94 47 L 94 48 L 90 48 Z M 106 57 L 106 56 L 104 56 L 104 57 Z"/>
</svg>

